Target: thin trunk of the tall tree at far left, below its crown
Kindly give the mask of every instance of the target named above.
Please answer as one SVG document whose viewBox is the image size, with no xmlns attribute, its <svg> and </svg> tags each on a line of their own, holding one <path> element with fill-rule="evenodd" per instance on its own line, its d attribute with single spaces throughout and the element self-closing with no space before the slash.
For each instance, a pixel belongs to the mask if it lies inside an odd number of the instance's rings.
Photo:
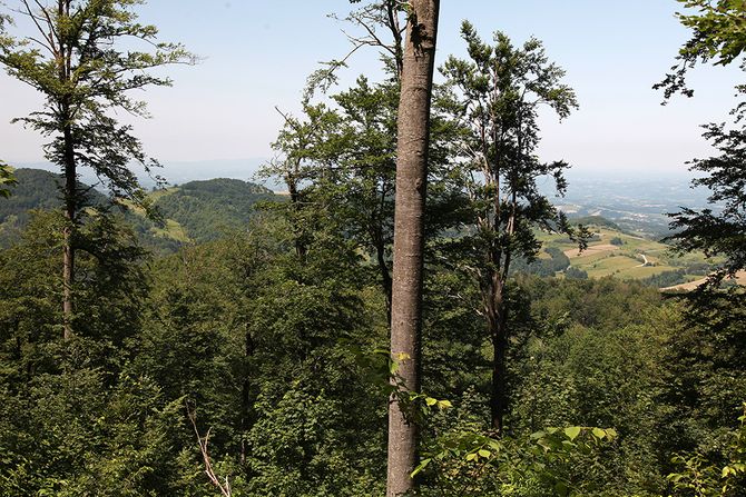
<svg viewBox="0 0 746 497">
<path fill-rule="evenodd" d="M 78 181 L 75 163 L 75 149 L 72 146 L 72 130 L 70 125 L 65 126 L 65 218 L 66 225 L 62 231 L 62 324 L 65 327 L 63 338 L 72 337 L 72 312 L 73 298 L 72 287 L 75 285 L 75 223 L 78 203 Z"/>
</svg>

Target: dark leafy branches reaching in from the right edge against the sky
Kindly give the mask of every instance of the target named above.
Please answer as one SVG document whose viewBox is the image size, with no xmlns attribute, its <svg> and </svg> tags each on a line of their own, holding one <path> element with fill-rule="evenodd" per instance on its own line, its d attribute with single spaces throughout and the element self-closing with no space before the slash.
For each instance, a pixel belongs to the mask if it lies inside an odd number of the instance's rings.
<svg viewBox="0 0 746 497">
<path fill-rule="evenodd" d="M 715 66 L 739 63 L 746 71 L 746 7 L 737 0 L 678 0 L 693 9 L 679 14 L 681 23 L 691 30 L 691 38 L 681 47 L 677 63 L 666 78 L 655 88 L 665 91 L 666 100 L 675 93 L 687 97 L 694 90 L 687 86 L 687 72 L 700 63 Z M 683 208 L 671 213 L 671 236 L 681 252 L 704 251 L 708 258 L 719 258 L 719 268 L 687 297 L 697 306 L 698 315 L 710 309 L 725 324 L 739 321 L 738 310 L 746 302 L 746 294 L 737 288 L 728 291 L 727 298 L 720 292 L 720 284 L 746 270 L 746 85 L 736 86 L 736 103 L 730 112 L 733 122 L 711 122 L 703 126 L 703 135 L 718 151 L 718 156 L 695 159 L 691 170 L 699 178 L 693 187 L 710 190 L 710 208 L 695 210 Z M 714 298 L 714 297 L 718 298 Z M 735 316 L 732 316 L 733 312 Z M 698 316 L 697 316 L 698 317 Z"/>
</svg>

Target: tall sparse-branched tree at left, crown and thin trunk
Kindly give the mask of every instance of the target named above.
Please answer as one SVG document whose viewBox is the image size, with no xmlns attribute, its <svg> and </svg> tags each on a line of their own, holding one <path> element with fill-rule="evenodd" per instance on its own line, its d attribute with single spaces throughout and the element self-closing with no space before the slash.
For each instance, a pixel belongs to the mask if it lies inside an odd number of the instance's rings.
<svg viewBox="0 0 746 497">
<path fill-rule="evenodd" d="M 73 330 L 76 231 L 86 201 L 86 190 L 77 182 L 79 170 L 91 168 L 112 196 L 126 196 L 146 206 L 129 165 L 139 162 L 149 171 L 158 163 L 146 156 L 131 127 L 121 125 L 112 112 L 147 117 L 145 103 L 130 97 L 131 91 L 170 85 L 169 79 L 148 70 L 194 61 L 181 46 L 157 42 L 155 27 L 137 22 L 132 8 L 140 3 L 21 0 L 12 12 L 35 32 L 0 33 L 0 63 L 46 99 L 41 110 L 17 121 L 49 138 L 46 157 L 60 167 L 63 177 L 66 339 Z M 150 51 L 125 48 L 131 47 L 132 40 Z"/>
</svg>

